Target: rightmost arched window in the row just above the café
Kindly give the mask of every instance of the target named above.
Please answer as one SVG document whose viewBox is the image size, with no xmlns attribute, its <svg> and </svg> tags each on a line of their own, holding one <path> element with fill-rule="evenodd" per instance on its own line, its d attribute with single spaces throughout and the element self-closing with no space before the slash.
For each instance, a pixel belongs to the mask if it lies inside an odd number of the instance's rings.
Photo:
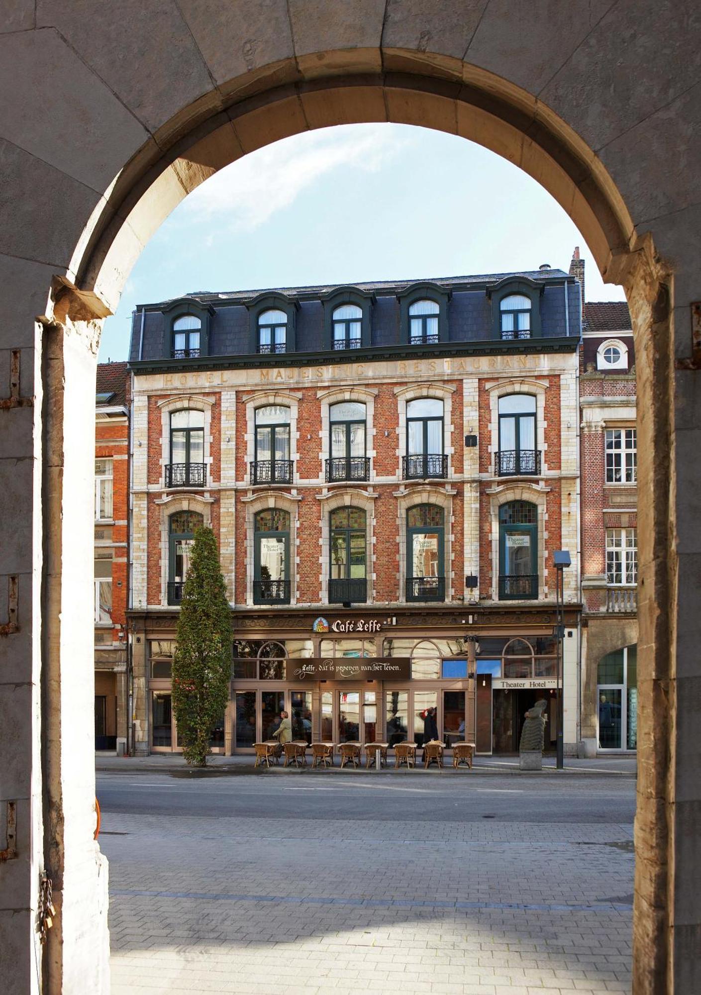
<svg viewBox="0 0 701 995">
<path fill-rule="evenodd" d="M 499 597 L 538 597 L 538 506 L 530 501 L 499 508 Z"/>
</svg>

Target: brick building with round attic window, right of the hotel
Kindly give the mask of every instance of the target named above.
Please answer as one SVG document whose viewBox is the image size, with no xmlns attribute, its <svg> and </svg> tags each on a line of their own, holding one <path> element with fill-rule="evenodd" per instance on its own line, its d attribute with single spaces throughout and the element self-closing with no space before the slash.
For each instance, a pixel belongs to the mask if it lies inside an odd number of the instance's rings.
<svg viewBox="0 0 701 995">
<path fill-rule="evenodd" d="M 579 250 L 571 268 L 584 282 Z M 582 738 L 637 743 L 635 353 L 624 301 L 586 301 L 581 350 Z"/>
</svg>

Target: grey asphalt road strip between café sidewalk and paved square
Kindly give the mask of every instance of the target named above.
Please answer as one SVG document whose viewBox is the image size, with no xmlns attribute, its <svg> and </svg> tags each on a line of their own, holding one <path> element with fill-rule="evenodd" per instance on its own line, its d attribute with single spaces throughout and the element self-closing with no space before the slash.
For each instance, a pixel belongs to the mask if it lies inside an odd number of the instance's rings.
<svg viewBox="0 0 701 995">
<path fill-rule="evenodd" d="M 199 777 L 98 774 L 102 812 L 122 815 L 632 825 L 631 778 Z M 106 829 L 108 827 L 106 826 Z"/>
</svg>

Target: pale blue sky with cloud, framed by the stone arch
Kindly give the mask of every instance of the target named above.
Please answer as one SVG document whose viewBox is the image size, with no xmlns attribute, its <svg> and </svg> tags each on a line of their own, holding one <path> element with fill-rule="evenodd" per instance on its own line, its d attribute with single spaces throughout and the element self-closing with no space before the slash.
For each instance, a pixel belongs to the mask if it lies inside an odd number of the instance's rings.
<svg viewBox="0 0 701 995">
<path fill-rule="evenodd" d="M 194 190 L 136 262 L 100 361 L 125 359 L 131 311 L 195 291 L 265 290 L 537 270 L 586 260 L 587 300 L 604 285 L 578 229 L 517 166 L 456 135 L 349 124 L 294 135 Z"/>
</svg>

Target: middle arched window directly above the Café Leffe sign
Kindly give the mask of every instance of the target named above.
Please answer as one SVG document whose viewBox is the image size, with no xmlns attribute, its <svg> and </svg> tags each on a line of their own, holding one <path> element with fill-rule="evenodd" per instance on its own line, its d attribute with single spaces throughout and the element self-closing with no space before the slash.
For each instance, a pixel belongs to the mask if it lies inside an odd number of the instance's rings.
<svg viewBox="0 0 701 995">
<path fill-rule="evenodd" d="M 329 602 L 367 600 L 366 515 L 360 507 L 337 507 L 329 516 L 331 533 Z"/>
</svg>

